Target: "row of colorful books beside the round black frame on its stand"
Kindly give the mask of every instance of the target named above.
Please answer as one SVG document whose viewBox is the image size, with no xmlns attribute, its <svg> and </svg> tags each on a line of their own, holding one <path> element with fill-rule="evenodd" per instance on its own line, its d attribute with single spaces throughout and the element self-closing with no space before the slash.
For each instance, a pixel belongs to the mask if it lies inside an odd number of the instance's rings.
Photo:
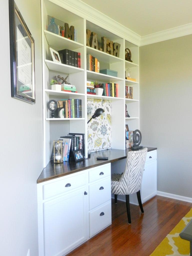
<svg viewBox="0 0 192 256">
<path fill-rule="evenodd" d="M 58 118 L 82 118 L 81 99 L 62 99 L 57 102 Z"/>
</svg>

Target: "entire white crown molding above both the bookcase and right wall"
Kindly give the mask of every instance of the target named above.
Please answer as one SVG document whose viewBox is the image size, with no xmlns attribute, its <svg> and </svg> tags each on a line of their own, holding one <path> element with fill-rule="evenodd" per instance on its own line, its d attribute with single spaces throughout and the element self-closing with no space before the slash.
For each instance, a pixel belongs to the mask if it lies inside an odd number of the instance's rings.
<svg viewBox="0 0 192 256">
<path fill-rule="evenodd" d="M 161 42 L 176 37 L 186 36 L 192 34 L 192 23 L 163 30 L 157 33 L 153 33 L 146 36 L 140 36 L 116 22 L 114 19 L 106 16 L 105 14 L 99 12 L 98 10 L 92 8 L 88 4 L 82 2 L 81 0 L 49 0 L 72 13 L 77 13 L 78 16 L 100 26 L 115 35 L 118 35 L 120 38 L 137 45 L 144 46 L 149 44 L 154 44 L 156 42 Z M 93 31 L 94 32 L 94 31 Z"/>
</svg>

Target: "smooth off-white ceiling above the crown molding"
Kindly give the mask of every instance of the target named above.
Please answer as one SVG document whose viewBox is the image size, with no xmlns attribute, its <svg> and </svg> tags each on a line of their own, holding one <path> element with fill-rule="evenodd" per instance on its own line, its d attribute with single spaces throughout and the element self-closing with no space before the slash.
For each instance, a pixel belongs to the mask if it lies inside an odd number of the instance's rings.
<svg viewBox="0 0 192 256">
<path fill-rule="evenodd" d="M 192 0 L 81 0 L 140 36 L 192 24 Z"/>
</svg>

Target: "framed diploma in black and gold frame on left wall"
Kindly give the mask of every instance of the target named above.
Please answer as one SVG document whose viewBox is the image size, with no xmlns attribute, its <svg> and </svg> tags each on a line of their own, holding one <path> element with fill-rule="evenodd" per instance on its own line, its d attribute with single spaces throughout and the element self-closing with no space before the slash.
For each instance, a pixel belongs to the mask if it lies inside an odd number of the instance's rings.
<svg viewBox="0 0 192 256">
<path fill-rule="evenodd" d="M 35 104 L 34 39 L 14 0 L 9 0 L 11 97 Z"/>
</svg>

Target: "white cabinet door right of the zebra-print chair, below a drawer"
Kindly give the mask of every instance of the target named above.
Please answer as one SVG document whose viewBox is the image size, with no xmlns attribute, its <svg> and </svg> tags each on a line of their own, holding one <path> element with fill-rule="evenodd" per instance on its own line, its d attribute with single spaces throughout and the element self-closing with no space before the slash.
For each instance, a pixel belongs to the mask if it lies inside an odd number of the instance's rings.
<svg viewBox="0 0 192 256">
<path fill-rule="evenodd" d="M 141 201 L 146 202 L 157 194 L 157 161 L 145 164 L 141 184 Z"/>
</svg>

